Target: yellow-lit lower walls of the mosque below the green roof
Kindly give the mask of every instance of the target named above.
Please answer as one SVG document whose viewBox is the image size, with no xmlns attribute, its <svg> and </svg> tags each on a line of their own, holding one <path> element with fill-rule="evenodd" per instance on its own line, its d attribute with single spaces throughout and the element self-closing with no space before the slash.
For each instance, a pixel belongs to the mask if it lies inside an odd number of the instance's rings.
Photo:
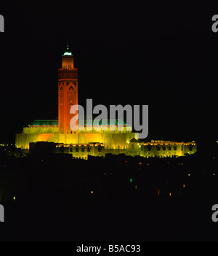
<svg viewBox="0 0 218 256">
<path fill-rule="evenodd" d="M 133 139 L 134 138 L 134 139 Z M 125 154 L 145 158 L 179 157 L 194 154 L 195 142 L 155 141 L 142 142 L 137 133 L 20 133 L 16 134 L 16 147 L 32 152 L 36 142 L 53 142 L 55 153 L 71 154 L 73 158 L 87 159 L 89 155 Z M 42 143 L 43 144 L 43 143 Z"/>
</svg>

